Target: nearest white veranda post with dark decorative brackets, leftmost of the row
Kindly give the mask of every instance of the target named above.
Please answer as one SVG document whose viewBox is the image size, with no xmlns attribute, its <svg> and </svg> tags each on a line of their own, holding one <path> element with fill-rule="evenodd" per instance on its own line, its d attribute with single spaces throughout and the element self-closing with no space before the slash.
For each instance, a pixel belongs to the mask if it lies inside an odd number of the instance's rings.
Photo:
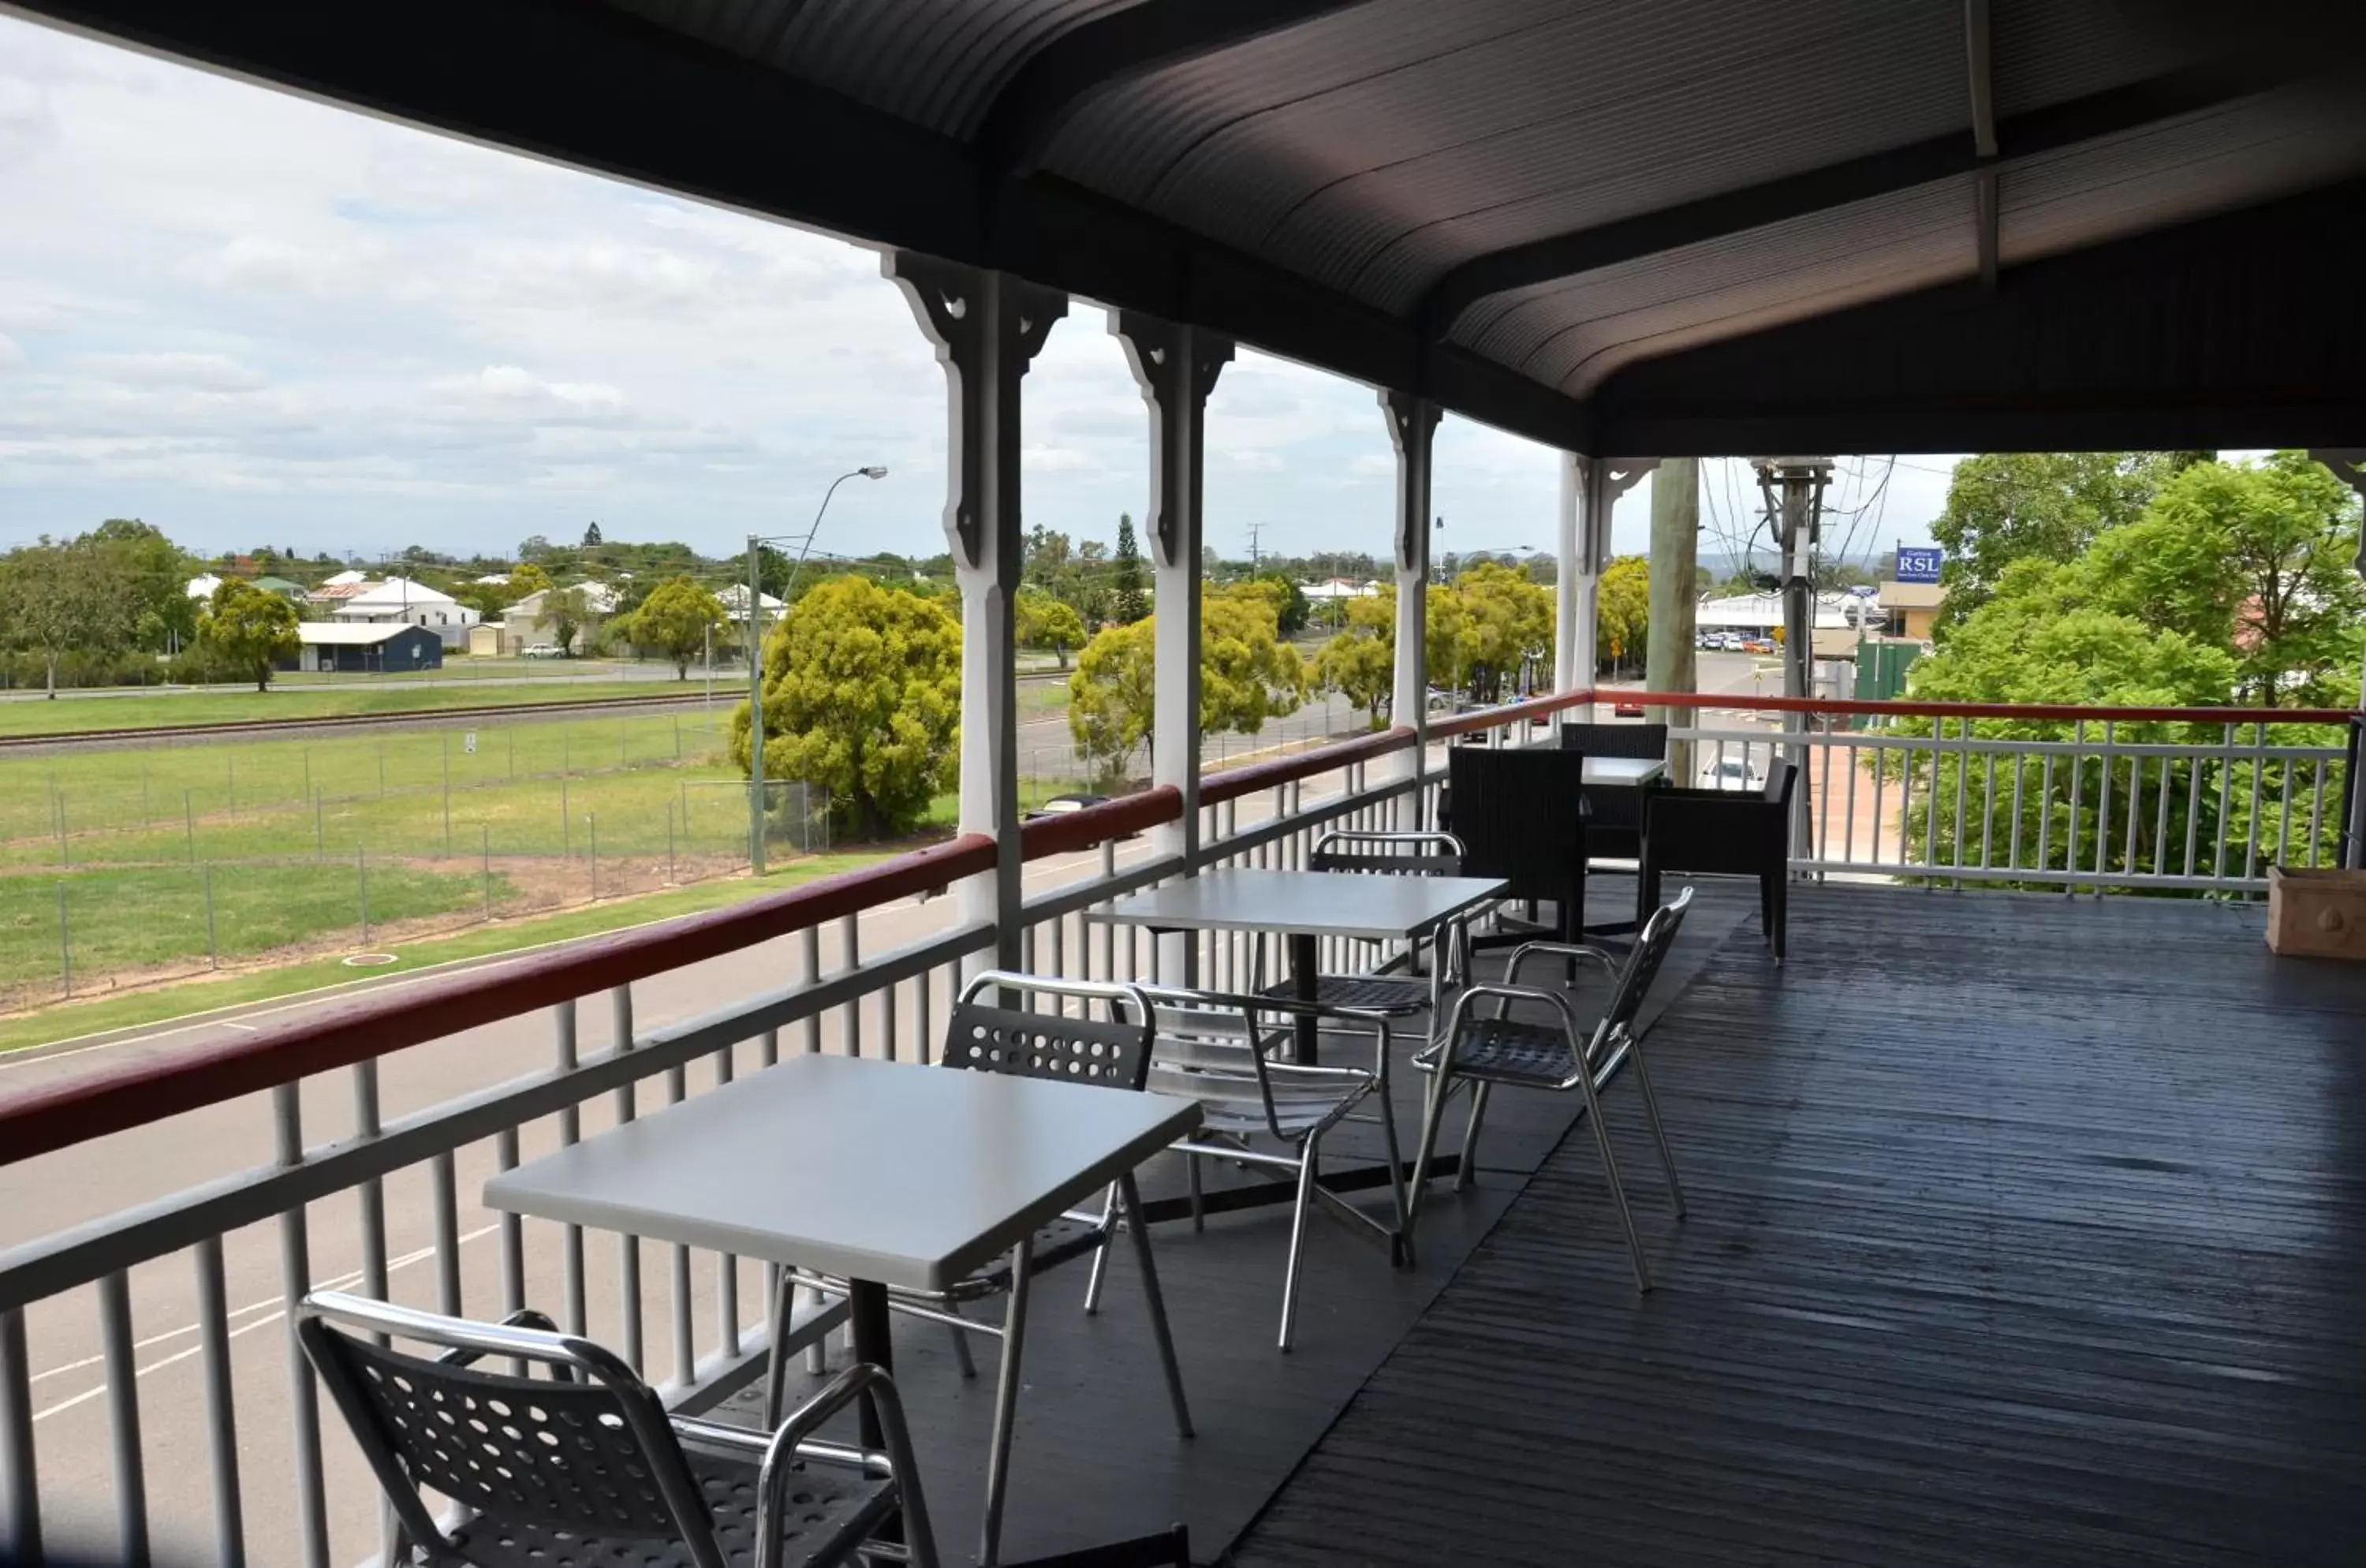
<svg viewBox="0 0 2366 1568">
<path fill-rule="evenodd" d="M 961 887 L 963 920 L 994 922 L 994 965 L 1020 967 L 1020 383 L 1067 315 L 1067 296 L 1008 272 L 894 251 L 904 291 L 944 367 L 951 430 L 944 537 L 961 582 L 961 830 L 996 842 L 991 877 Z"/>
</svg>

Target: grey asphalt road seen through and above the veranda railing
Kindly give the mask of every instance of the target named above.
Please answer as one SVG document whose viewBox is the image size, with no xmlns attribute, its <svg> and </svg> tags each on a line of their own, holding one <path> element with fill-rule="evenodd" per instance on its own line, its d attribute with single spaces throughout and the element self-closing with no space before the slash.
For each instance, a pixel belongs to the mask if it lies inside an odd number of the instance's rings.
<svg viewBox="0 0 2366 1568">
<path fill-rule="evenodd" d="M 1308 802 L 1325 792 L 1308 790 Z M 1261 799 L 1242 802 L 1240 823 L 1249 825 L 1266 811 Z M 1119 863 L 1150 854 L 1150 842 L 1119 847 Z M 1029 889 L 1048 889 L 1098 875 L 1100 854 L 1077 854 L 1043 861 L 1027 870 Z M 939 934 L 956 920 L 953 899 L 927 903 L 904 901 L 871 911 L 859 922 L 864 953 Z M 752 946 L 686 970 L 674 970 L 634 986 L 636 1031 L 689 1019 L 726 1005 L 731 998 L 788 984 L 800 972 L 800 941 L 781 939 Z M 823 967 L 842 963 L 838 929 L 823 934 Z M 121 1067 L 163 1060 L 211 1041 L 241 1038 L 267 1019 L 303 1017 L 324 1003 L 289 1003 L 227 1022 L 201 1022 L 159 1029 L 140 1038 L 88 1048 L 80 1052 L 0 1062 L 0 1090 L 21 1090 L 59 1081 L 92 1067 Z M 942 1000 L 935 1017 L 942 1015 Z M 878 1000 L 864 1005 L 866 1038 L 878 1041 Z M 899 1010 L 904 1050 L 911 1050 L 913 1015 Z M 596 1052 L 610 1043 L 610 1007 L 606 998 L 580 1005 L 580 1050 Z M 845 1041 L 845 1019 L 821 1022 L 823 1050 Z M 783 1038 L 783 1050 L 797 1050 L 802 1038 Z M 547 1069 L 554 1060 L 554 1024 L 532 1015 L 471 1029 L 421 1045 L 381 1064 L 381 1112 L 386 1121 L 485 1090 L 509 1078 Z M 736 1052 L 738 1069 L 755 1067 L 755 1043 Z M 715 1067 L 693 1069 L 698 1083 L 715 1078 Z M 644 1109 L 665 1097 L 665 1083 L 644 1083 Z M 350 1135 L 355 1126 L 353 1074 L 331 1074 L 303 1086 L 308 1145 Z M 613 1123 L 608 1100 L 584 1104 L 584 1133 Z M 523 1154 L 532 1159 L 556 1147 L 556 1123 L 523 1130 Z M 140 1204 L 187 1192 L 211 1180 L 248 1171 L 267 1161 L 272 1149 L 270 1100 L 253 1095 L 208 1107 L 170 1121 L 102 1138 L 59 1154 L 0 1168 L 0 1249 L 66 1232 L 76 1225 L 123 1213 Z M 499 1315 L 497 1227 L 476 1197 L 494 1171 L 492 1145 L 473 1145 L 457 1154 L 459 1256 L 464 1310 Z M 852 1175 L 852 1173 L 849 1173 Z M 355 1284 L 362 1261 L 360 1197 L 353 1192 L 310 1206 L 310 1277 L 319 1284 Z M 438 1261 L 433 1251 L 433 1190 L 428 1171 L 405 1171 L 386 1183 L 386 1246 L 390 1294 L 414 1305 L 438 1305 Z M 558 1310 L 563 1258 L 558 1230 L 525 1230 L 525 1298 Z M 674 1374 L 672 1265 L 667 1246 L 641 1246 L 641 1301 L 648 1324 L 646 1367 L 653 1376 Z M 622 1244 L 615 1237 L 587 1237 L 589 1329 L 620 1343 Z M 251 1563 L 274 1566 L 298 1561 L 293 1436 L 289 1402 L 289 1339 L 282 1310 L 282 1268 L 277 1225 L 258 1225 L 225 1239 L 230 1279 L 232 1376 L 239 1391 L 241 1495 Z M 691 1270 L 691 1317 L 698 1346 L 719 1343 L 715 1331 L 719 1261 L 698 1256 Z M 736 1279 L 738 1322 L 762 1320 L 757 1270 Z M 135 1367 L 140 1386 L 140 1436 L 147 1457 L 147 1497 L 154 1521 L 156 1554 L 166 1561 L 201 1561 L 211 1554 L 211 1478 L 206 1445 L 203 1369 L 196 1346 L 196 1275 L 189 1253 L 173 1253 L 130 1272 Z M 80 1289 L 40 1301 L 26 1310 L 33 1365 L 33 1433 L 43 1497 L 50 1499 L 52 1540 L 111 1544 L 114 1471 L 109 1459 L 109 1395 L 102 1360 L 97 1291 Z M 331 1563 L 360 1561 L 376 1547 L 376 1504 L 371 1483 L 348 1438 L 324 1412 L 324 1450 L 329 1464 Z"/>
</svg>

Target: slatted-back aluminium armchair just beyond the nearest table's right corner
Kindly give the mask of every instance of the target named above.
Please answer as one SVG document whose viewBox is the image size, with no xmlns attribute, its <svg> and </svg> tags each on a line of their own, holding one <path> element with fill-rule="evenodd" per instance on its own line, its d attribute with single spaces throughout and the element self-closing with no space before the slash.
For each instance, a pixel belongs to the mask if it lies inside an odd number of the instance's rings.
<svg viewBox="0 0 2366 1568">
<path fill-rule="evenodd" d="M 1190 1171 L 1192 1227 L 1204 1220 L 1200 1161 L 1230 1159 L 1297 1178 L 1289 1211 L 1289 1256 L 1282 1263 L 1280 1348 L 1289 1350 L 1299 1308 L 1299 1265 L 1306 1251 L 1306 1216 L 1320 1201 L 1351 1227 L 1375 1235 L 1389 1246 L 1391 1261 L 1408 1251 L 1403 1159 L 1396 1147 L 1396 1112 L 1389 1107 L 1389 1019 L 1382 1012 L 1325 1007 L 1320 1003 L 1273 1000 L 1268 996 L 1226 996 L 1221 991 L 1183 991 L 1145 986 L 1157 1038 L 1150 1048 L 1150 1083 L 1159 1095 L 1200 1102 L 1200 1130 L 1169 1145 L 1183 1154 Z M 1282 1019 L 1266 1026 L 1263 1019 Z M 1315 1017 L 1370 1031 L 1372 1067 L 1346 1062 L 1278 1060 L 1275 1048 L 1289 1045 L 1289 1022 Z M 1396 1199 L 1396 1225 L 1382 1225 L 1346 1199 L 1320 1185 L 1323 1138 L 1349 1119 L 1368 1097 L 1379 1102 L 1379 1128 L 1389 1152 L 1389 1190 Z M 1280 1152 L 1256 1147 L 1271 1138 Z M 1093 1265 L 1093 1291 L 1100 1289 L 1100 1265 Z"/>
</svg>

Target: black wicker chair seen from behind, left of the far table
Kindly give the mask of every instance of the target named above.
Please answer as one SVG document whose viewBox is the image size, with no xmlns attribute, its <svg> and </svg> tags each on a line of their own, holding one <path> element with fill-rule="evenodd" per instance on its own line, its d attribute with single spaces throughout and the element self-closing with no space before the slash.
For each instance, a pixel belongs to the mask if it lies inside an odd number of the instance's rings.
<svg viewBox="0 0 2366 1568">
<path fill-rule="evenodd" d="M 1585 752 L 1457 745 L 1446 754 L 1446 776 L 1462 875 L 1505 880 L 1507 899 L 1550 899 L 1562 941 L 1578 941 L 1585 929 Z"/>
</svg>

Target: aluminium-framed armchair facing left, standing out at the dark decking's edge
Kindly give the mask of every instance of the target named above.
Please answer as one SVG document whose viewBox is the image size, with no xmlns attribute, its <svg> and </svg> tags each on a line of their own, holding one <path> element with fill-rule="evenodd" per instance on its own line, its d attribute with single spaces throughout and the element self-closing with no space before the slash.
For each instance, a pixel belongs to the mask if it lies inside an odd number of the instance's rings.
<svg viewBox="0 0 2366 1568">
<path fill-rule="evenodd" d="M 1602 1126 L 1602 1090 L 1611 1076 L 1635 1064 L 1635 1088 L 1642 1090 L 1644 1116 L 1651 1121 L 1651 1140 L 1659 1145 L 1659 1164 L 1668 1173 L 1668 1194 L 1675 1199 L 1675 1216 L 1685 1218 L 1685 1190 L 1675 1180 L 1675 1154 L 1668 1152 L 1668 1130 L 1659 1119 L 1659 1097 L 1651 1093 L 1651 1074 L 1642 1062 L 1642 1038 L 1635 1019 L 1659 977 L 1661 960 L 1675 946 L 1675 932 L 1692 908 L 1687 887 L 1675 903 L 1661 906 L 1642 925 L 1635 951 L 1625 965 L 1602 948 L 1531 941 L 1512 953 L 1502 984 L 1474 984 L 1455 996 L 1446 1017 L 1446 1029 L 1436 1043 L 1413 1057 L 1413 1064 L 1429 1078 L 1429 1097 L 1422 1109 L 1422 1149 L 1413 1156 L 1413 1211 L 1420 1216 L 1422 1192 L 1429 1185 L 1429 1156 L 1439 1145 L 1439 1123 L 1446 1119 L 1446 1102 L 1465 1086 L 1472 1090 L 1472 1123 L 1462 1135 L 1462 1164 L 1455 1171 L 1455 1190 L 1469 1187 L 1479 1166 L 1479 1128 L 1486 1121 L 1486 1100 L 1495 1086 L 1583 1090 L 1585 1119 L 1595 1128 L 1602 1147 L 1602 1173 L 1609 1175 L 1611 1199 L 1618 1206 L 1618 1223 L 1625 1227 L 1628 1251 L 1635 1258 L 1635 1284 L 1651 1289 L 1651 1270 L 1642 1261 L 1642 1237 L 1635 1235 L 1635 1216 L 1628 1211 L 1625 1187 L 1618 1183 L 1618 1156 L 1611 1152 L 1609 1128 Z M 1585 958 L 1599 963 L 1616 977 L 1611 1003 L 1592 1029 L 1578 1024 L 1578 1012 L 1566 991 L 1538 991 L 1519 984 L 1519 972 L 1531 958 L 1554 958 L 1573 963 Z M 1481 998 L 1493 1000 L 1491 1012 L 1474 1007 Z M 1512 1003 L 1528 1003 L 1531 1010 L 1552 1012 L 1550 1024 L 1510 1017 Z"/>
</svg>

